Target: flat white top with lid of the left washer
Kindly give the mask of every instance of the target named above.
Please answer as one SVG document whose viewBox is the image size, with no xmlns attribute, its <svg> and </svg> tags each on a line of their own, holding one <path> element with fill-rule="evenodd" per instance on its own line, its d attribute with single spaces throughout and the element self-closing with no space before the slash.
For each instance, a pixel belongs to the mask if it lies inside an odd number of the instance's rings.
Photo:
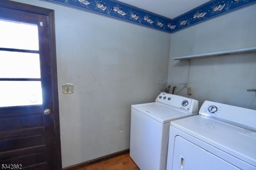
<svg viewBox="0 0 256 170">
<path fill-rule="evenodd" d="M 160 123 L 169 123 L 170 121 L 192 115 L 191 113 L 181 111 L 180 109 L 176 109 L 174 107 L 162 105 L 160 103 L 132 105 L 132 108 L 142 112 L 144 115 L 147 115 Z"/>
</svg>

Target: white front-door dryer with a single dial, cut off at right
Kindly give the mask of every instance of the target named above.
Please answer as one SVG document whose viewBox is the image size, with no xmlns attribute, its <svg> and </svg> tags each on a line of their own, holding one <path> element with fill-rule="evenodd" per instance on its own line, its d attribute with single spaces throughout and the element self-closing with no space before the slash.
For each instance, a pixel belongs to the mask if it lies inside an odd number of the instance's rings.
<svg viewBox="0 0 256 170">
<path fill-rule="evenodd" d="M 167 170 L 256 170 L 256 111 L 205 101 L 171 122 Z"/>
</svg>

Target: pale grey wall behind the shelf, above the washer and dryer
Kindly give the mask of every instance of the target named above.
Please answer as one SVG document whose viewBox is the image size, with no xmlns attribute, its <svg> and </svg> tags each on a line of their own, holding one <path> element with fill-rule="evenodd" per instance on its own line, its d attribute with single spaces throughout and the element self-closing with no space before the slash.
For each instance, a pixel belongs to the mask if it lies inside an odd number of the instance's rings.
<svg viewBox="0 0 256 170">
<path fill-rule="evenodd" d="M 172 58 L 256 47 L 256 5 L 171 34 L 168 85 L 174 94 L 256 109 L 256 53 L 176 61 Z M 188 74 L 189 71 L 189 74 Z"/>
</svg>

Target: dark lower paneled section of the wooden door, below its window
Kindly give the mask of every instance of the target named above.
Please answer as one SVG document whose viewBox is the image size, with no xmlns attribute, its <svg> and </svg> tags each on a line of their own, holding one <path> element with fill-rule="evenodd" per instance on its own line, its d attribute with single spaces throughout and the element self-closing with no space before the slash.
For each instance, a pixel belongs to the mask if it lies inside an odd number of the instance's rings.
<svg viewBox="0 0 256 170">
<path fill-rule="evenodd" d="M 22 169 L 48 166 L 44 117 L 43 113 L 0 117 L 0 164 L 21 164 Z"/>
</svg>

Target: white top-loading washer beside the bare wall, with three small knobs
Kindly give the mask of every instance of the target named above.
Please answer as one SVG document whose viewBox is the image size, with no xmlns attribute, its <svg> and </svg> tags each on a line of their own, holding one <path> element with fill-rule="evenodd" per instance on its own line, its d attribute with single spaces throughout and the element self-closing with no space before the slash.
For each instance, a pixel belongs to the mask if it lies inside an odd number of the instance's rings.
<svg viewBox="0 0 256 170">
<path fill-rule="evenodd" d="M 168 93 L 132 105 L 130 157 L 140 170 L 165 170 L 170 121 L 197 114 L 198 101 Z"/>
</svg>

